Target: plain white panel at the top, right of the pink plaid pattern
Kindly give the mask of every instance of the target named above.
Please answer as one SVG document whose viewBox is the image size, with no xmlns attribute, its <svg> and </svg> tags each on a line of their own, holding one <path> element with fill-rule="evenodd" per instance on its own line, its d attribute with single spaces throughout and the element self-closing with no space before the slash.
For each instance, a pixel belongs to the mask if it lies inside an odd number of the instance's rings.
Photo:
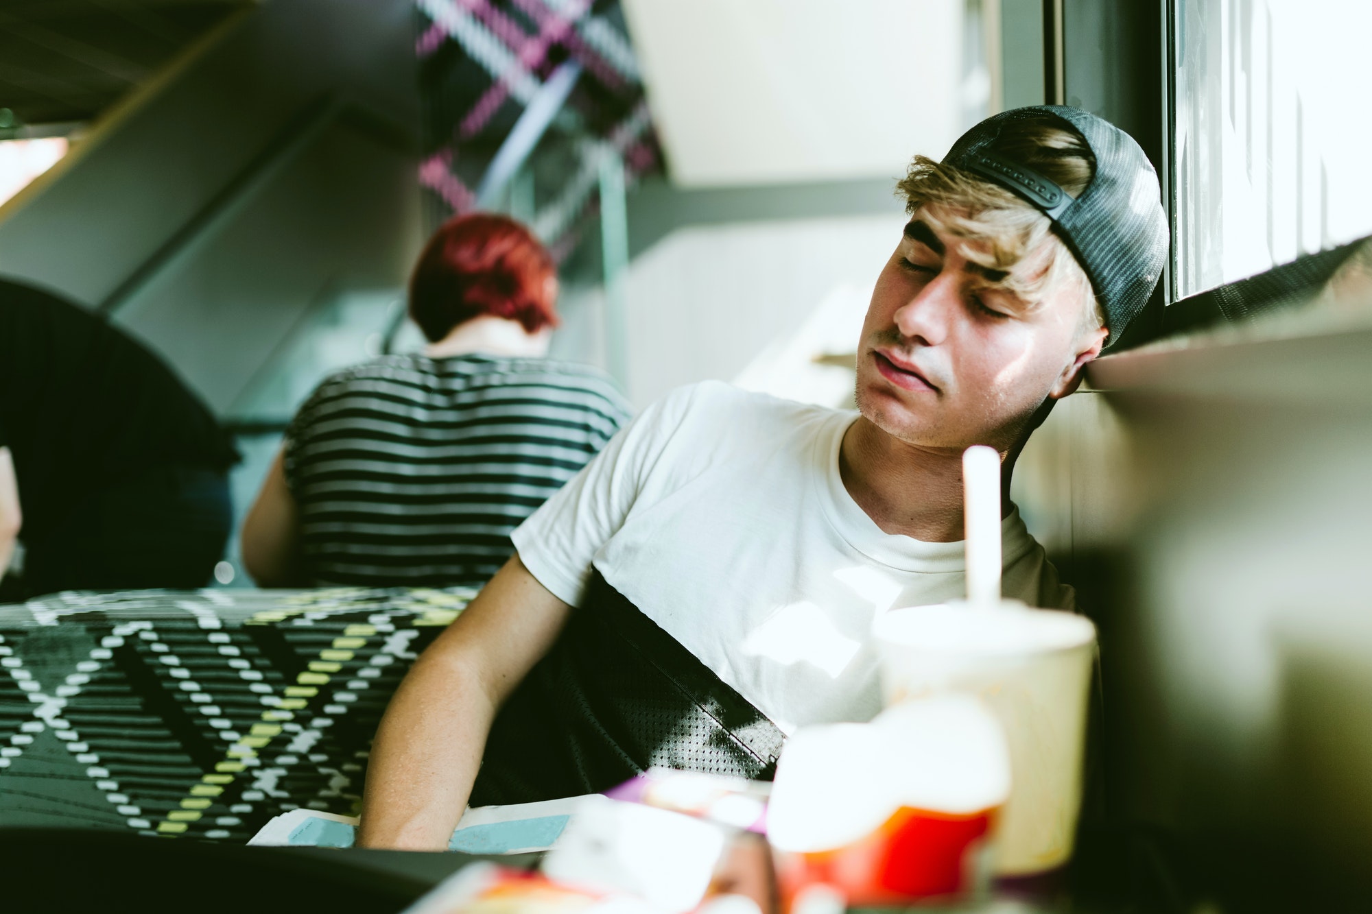
<svg viewBox="0 0 1372 914">
<path fill-rule="evenodd" d="M 624 0 L 672 180 L 904 172 L 962 113 L 963 0 Z"/>
</svg>

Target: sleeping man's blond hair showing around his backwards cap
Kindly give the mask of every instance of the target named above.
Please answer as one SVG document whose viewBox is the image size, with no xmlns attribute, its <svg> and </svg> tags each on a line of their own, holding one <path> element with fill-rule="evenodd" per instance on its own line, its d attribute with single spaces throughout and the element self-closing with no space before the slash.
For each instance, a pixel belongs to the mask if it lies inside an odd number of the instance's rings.
<svg viewBox="0 0 1372 914">
<path fill-rule="evenodd" d="M 1039 172 L 1072 198 L 1080 196 L 1095 176 L 1096 159 L 1081 134 L 1047 117 L 1007 121 L 989 148 Z M 1032 204 L 999 184 L 923 155 L 914 158 L 896 188 L 906 198 L 906 213 L 919 213 L 933 229 L 967 239 L 971 243 L 959 248 L 963 257 L 1004 272 L 1004 279 L 993 283 L 996 287 L 1032 307 L 1055 288 L 1076 287 L 1084 298 L 1089 329 L 1104 327 L 1104 313 L 1085 270 L 1054 235 L 1052 221 Z M 1045 265 L 1029 262 L 1044 250 Z"/>
</svg>

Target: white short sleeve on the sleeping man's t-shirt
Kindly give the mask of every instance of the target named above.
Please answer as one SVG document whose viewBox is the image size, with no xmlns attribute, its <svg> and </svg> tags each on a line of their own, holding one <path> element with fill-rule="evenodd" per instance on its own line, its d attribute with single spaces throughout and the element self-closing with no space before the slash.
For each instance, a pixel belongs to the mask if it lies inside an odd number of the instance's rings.
<svg viewBox="0 0 1372 914">
<path fill-rule="evenodd" d="M 558 600 L 580 602 L 591 561 L 624 526 L 693 390 L 674 391 L 645 409 L 510 535 L 524 567 Z"/>
</svg>

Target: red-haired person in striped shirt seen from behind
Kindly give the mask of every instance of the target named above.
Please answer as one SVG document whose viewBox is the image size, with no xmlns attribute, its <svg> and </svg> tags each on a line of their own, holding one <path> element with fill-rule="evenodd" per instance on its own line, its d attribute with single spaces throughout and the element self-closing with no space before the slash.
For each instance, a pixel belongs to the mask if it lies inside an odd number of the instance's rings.
<svg viewBox="0 0 1372 914">
<path fill-rule="evenodd" d="M 519 222 L 445 224 L 410 279 L 428 346 L 316 388 L 243 526 L 262 586 L 484 583 L 510 531 L 628 419 L 600 371 L 546 358 L 557 272 Z"/>
</svg>

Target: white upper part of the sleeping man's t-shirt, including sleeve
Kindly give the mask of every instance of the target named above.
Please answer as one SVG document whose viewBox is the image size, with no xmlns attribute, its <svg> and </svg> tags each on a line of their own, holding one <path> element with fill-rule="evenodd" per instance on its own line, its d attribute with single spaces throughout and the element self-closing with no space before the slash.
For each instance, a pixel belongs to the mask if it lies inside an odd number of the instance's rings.
<svg viewBox="0 0 1372 914">
<path fill-rule="evenodd" d="M 838 475 L 855 412 L 719 382 L 649 406 L 514 530 L 530 572 L 578 605 L 594 565 L 778 727 L 881 710 L 874 618 L 965 596 L 963 543 L 882 532 Z M 1072 608 L 1019 512 L 1007 597 Z"/>
</svg>

